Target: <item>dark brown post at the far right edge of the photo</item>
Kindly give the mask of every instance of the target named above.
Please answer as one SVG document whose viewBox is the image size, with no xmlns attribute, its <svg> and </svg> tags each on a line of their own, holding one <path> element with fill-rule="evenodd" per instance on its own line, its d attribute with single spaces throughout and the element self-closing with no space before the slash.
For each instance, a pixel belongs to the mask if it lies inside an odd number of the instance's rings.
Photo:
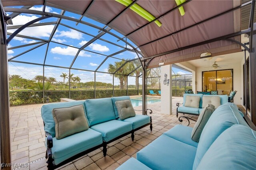
<svg viewBox="0 0 256 170">
<path fill-rule="evenodd" d="M 251 39 L 250 39 L 251 40 Z M 251 117 L 252 117 L 252 123 L 256 125 L 256 34 L 252 37 L 253 44 L 252 44 L 252 52 L 250 52 L 250 106 L 251 106 Z M 252 42 L 250 42 L 252 43 Z"/>
</svg>

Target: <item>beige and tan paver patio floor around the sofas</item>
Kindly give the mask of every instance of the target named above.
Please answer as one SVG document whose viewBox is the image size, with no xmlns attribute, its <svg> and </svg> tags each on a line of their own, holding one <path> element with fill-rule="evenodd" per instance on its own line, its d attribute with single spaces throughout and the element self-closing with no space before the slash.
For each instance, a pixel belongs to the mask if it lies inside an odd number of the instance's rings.
<svg viewBox="0 0 256 170">
<path fill-rule="evenodd" d="M 173 97 L 172 113 L 176 113 L 176 103 L 182 103 L 182 97 Z M 19 169 L 46 169 L 44 146 L 44 124 L 41 117 L 42 104 L 10 107 L 12 163 L 28 163 L 29 167 Z M 142 109 L 141 106 L 134 109 Z M 162 133 L 177 124 L 187 125 L 187 121 L 178 121 L 176 115 L 161 114 L 160 102 L 148 104 L 152 109 L 153 130 L 148 127 L 135 132 L 134 142 L 130 134 L 108 144 L 107 156 L 103 157 L 102 148 L 90 152 L 75 161 L 62 166 L 62 170 L 103 170 L 115 169 L 130 157 L 136 157 L 136 152 L 148 145 Z M 141 112 L 136 111 L 137 114 Z M 197 119 L 197 117 L 195 117 Z M 194 122 L 190 124 L 194 126 Z"/>
</svg>

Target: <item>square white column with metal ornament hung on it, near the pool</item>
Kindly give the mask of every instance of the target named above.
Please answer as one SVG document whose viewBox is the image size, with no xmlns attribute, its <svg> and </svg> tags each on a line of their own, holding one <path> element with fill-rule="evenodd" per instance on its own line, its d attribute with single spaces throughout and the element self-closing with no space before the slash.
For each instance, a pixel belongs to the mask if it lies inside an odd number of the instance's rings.
<svg viewBox="0 0 256 170">
<path fill-rule="evenodd" d="M 164 84 L 164 74 L 170 79 L 169 85 Z M 172 115 L 172 65 L 161 66 L 161 113 Z"/>
</svg>

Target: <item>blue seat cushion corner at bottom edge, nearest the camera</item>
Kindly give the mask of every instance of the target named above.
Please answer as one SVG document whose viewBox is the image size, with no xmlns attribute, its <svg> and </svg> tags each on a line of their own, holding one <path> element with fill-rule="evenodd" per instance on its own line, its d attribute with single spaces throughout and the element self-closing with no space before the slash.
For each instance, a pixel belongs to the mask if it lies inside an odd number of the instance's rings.
<svg viewBox="0 0 256 170">
<path fill-rule="evenodd" d="M 116 168 L 116 170 L 151 170 L 151 169 L 132 157 L 128 159 L 126 162 L 124 162 L 121 166 Z"/>
</svg>

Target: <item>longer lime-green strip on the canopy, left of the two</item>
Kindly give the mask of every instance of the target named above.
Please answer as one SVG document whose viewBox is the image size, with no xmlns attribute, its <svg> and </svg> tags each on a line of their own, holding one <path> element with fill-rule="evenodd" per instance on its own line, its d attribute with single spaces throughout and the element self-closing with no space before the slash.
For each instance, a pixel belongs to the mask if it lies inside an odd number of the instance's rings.
<svg viewBox="0 0 256 170">
<path fill-rule="evenodd" d="M 133 2 L 132 0 L 115 0 L 115 1 L 119 2 L 120 4 L 123 4 L 124 6 L 129 6 Z M 134 12 L 136 12 L 141 17 L 148 20 L 149 22 L 156 19 L 154 16 L 152 16 L 152 14 L 150 14 L 148 11 L 144 10 L 144 8 L 142 8 L 141 6 L 139 6 L 136 3 L 133 4 L 130 7 L 130 9 L 133 10 Z M 156 25 L 158 25 L 158 27 L 162 26 L 162 24 L 158 20 L 156 20 L 154 22 L 156 23 Z"/>
</svg>

